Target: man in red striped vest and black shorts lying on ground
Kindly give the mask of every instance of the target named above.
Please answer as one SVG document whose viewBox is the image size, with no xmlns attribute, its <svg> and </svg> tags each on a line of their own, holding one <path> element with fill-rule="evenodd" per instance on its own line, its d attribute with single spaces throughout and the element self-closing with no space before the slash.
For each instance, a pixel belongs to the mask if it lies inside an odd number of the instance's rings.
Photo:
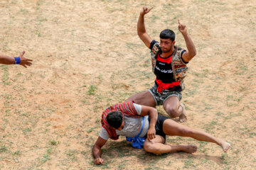
<svg viewBox="0 0 256 170">
<path fill-rule="evenodd" d="M 176 123 L 163 115 L 158 115 L 155 108 L 141 106 L 133 102 L 124 102 L 102 113 L 102 130 L 92 148 L 95 164 L 102 164 L 101 148 L 107 140 L 117 140 L 119 135 L 133 140 L 132 146 L 144 148 L 146 152 L 164 154 L 168 152 L 196 152 L 195 145 L 167 145 L 166 135 L 192 137 L 195 140 L 213 142 L 222 147 L 224 152 L 230 148 L 230 144 L 224 140 L 213 137 L 206 132 L 188 128 Z M 133 145 L 134 144 L 134 145 Z"/>
</svg>

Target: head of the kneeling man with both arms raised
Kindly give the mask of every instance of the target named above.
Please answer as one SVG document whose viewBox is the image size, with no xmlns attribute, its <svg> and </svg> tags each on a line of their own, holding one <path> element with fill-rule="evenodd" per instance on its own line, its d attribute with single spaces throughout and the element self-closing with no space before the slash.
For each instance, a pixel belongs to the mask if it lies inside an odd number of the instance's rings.
<svg viewBox="0 0 256 170">
<path fill-rule="evenodd" d="M 162 52 L 170 52 L 175 44 L 175 33 L 172 30 L 162 30 L 160 33 L 160 47 Z"/>
</svg>

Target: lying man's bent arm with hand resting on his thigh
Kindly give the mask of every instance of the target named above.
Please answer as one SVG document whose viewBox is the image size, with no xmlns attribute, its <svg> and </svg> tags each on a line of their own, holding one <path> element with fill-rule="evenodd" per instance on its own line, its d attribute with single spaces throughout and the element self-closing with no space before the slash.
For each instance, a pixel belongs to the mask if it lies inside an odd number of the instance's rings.
<svg viewBox="0 0 256 170">
<path fill-rule="evenodd" d="M 142 106 L 142 113 L 141 115 L 149 115 L 150 123 L 149 123 L 149 130 L 147 132 L 147 138 L 149 140 L 153 140 L 156 138 L 156 120 L 157 120 L 157 111 L 155 108 L 149 106 Z"/>
</svg>

